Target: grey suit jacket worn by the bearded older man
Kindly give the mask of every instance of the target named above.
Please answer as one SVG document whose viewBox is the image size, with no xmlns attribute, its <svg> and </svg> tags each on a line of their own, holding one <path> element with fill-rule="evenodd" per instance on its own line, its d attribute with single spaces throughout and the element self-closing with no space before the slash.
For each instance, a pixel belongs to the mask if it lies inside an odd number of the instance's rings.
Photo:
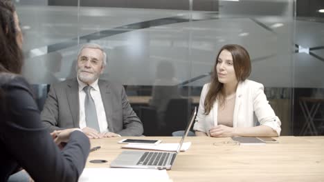
<svg viewBox="0 0 324 182">
<path fill-rule="evenodd" d="M 127 100 L 123 85 L 98 81 L 105 108 L 108 130 L 122 136 L 141 136 L 143 125 Z M 51 85 L 41 114 L 45 125 L 53 130 L 79 128 L 79 93 L 77 79 Z"/>
</svg>

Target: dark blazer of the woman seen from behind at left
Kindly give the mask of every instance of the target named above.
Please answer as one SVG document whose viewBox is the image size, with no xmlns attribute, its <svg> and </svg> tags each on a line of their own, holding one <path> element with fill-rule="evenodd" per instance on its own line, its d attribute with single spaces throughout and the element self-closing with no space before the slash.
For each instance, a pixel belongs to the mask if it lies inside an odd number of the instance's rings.
<svg viewBox="0 0 324 182">
<path fill-rule="evenodd" d="M 60 150 L 22 77 L 0 73 L 0 115 L 0 181 L 20 167 L 35 181 L 78 181 L 89 154 L 88 137 L 74 131 Z"/>
</svg>

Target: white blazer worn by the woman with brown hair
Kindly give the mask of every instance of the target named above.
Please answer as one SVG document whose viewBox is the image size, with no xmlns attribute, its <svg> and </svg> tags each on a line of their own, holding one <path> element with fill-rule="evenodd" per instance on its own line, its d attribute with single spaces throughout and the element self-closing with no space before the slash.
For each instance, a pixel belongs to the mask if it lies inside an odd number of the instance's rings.
<svg viewBox="0 0 324 182">
<path fill-rule="evenodd" d="M 216 100 L 209 114 L 204 114 L 204 102 L 209 85 L 210 83 L 206 83 L 201 90 L 199 108 L 194 126 L 194 130 L 206 132 L 208 135 L 210 128 L 217 125 L 218 108 L 218 101 Z M 278 133 L 278 136 L 280 135 L 280 119 L 273 112 L 271 105 L 269 105 L 267 97 L 264 94 L 263 85 L 251 80 L 240 81 L 236 90 L 233 127 L 253 127 L 258 121 L 260 125 L 269 126 Z"/>
</svg>

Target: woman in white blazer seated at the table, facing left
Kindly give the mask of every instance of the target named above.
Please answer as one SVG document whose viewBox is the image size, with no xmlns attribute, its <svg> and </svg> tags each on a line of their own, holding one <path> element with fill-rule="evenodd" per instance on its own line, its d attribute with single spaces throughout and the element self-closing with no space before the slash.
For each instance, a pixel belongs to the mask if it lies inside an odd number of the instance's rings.
<svg viewBox="0 0 324 182">
<path fill-rule="evenodd" d="M 241 45 L 228 44 L 219 50 L 211 81 L 201 90 L 196 136 L 280 135 L 280 119 L 263 85 L 247 79 L 250 73 L 249 53 Z"/>
</svg>

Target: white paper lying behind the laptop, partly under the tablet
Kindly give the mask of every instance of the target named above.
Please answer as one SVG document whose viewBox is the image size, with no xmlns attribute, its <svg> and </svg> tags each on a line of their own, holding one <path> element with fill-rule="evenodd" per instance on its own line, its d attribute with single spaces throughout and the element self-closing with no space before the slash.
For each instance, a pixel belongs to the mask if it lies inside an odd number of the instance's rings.
<svg viewBox="0 0 324 182">
<path fill-rule="evenodd" d="M 190 148 L 191 142 L 185 142 L 181 146 L 181 152 L 184 152 Z M 177 151 L 179 143 L 160 143 L 159 145 L 136 145 L 129 143 L 123 145 L 122 148 L 133 148 L 133 149 L 145 149 L 145 150 L 163 150 L 163 151 Z"/>
</svg>

